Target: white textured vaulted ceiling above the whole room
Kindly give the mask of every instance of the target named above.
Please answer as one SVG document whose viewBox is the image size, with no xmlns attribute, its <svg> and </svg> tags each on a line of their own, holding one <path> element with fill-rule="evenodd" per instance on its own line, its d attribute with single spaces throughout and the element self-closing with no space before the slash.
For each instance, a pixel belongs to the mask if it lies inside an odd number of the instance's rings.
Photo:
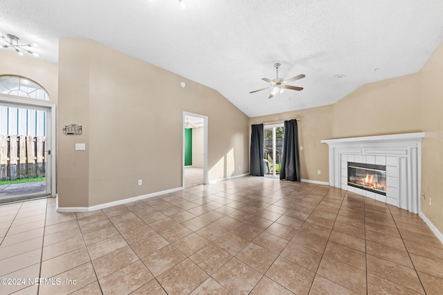
<svg viewBox="0 0 443 295">
<path fill-rule="evenodd" d="M 363 84 L 416 73 L 443 39 L 442 0 L 183 3 L 1 0 L 0 31 L 39 44 L 52 62 L 59 38 L 93 39 L 214 88 L 249 117 L 333 104 Z M 249 94 L 275 78 L 275 62 L 279 77 L 305 74 L 289 83 L 305 89 Z"/>
</svg>

